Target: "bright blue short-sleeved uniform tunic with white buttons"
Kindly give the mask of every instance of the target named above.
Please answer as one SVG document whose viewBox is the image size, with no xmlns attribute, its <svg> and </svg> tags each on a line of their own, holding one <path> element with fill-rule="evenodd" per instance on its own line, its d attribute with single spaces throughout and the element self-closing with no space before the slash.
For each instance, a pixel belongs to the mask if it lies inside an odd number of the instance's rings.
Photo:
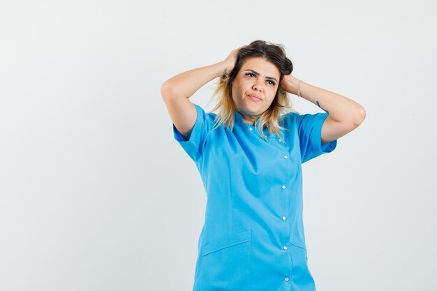
<svg viewBox="0 0 437 291">
<path fill-rule="evenodd" d="M 194 104 L 194 103 L 193 103 Z M 302 220 L 302 163 L 329 153 L 321 144 L 327 113 L 284 114 L 278 135 L 243 122 L 213 130 L 216 114 L 195 105 L 186 140 L 175 140 L 198 167 L 207 193 L 193 291 L 314 291 Z"/>
</svg>

